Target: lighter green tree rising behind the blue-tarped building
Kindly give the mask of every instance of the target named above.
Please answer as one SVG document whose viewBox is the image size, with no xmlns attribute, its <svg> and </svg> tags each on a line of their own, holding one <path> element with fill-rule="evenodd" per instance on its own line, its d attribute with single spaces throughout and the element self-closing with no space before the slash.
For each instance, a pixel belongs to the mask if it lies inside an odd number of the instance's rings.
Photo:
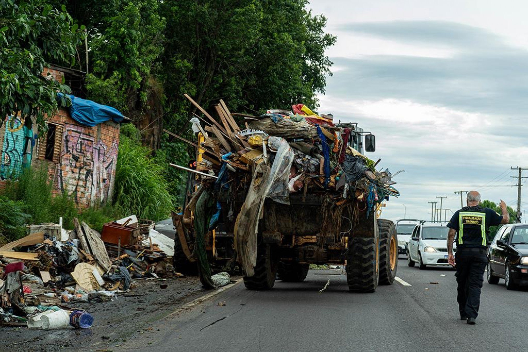
<svg viewBox="0 0 528 352">
<path fill-rule="evenodd" d="M 157 0 L 115 2 L 115 12 L 100 18 L 91 37 L 93 74 L 87 77 L 91 99 L 128 112 L 146 106 L 150 73 L 163 52 L 165 19 Z"/>
</svg>

